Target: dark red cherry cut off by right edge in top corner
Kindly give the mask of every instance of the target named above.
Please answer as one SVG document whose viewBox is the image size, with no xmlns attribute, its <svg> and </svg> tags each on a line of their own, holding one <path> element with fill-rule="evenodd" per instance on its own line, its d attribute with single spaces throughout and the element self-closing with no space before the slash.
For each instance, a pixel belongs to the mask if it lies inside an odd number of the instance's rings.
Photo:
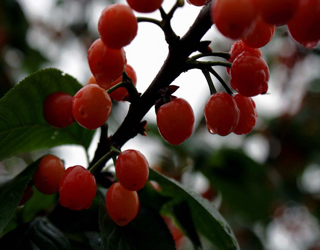
<svg viewBox="0 0 320 250">
<path fill-rule="evenodd" d="M 320 41 L 320 0 L 300 0 L 298 10 L 287 23 L 294 40 L 308 49 Z"/>
</svg>

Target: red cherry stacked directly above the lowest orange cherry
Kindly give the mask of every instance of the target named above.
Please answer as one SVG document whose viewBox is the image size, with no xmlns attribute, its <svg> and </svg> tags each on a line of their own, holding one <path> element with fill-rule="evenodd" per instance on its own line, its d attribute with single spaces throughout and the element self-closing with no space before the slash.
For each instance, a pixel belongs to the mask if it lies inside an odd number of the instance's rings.
<svg viewBox="0 0 320 250">
<path fill-rule="evenodd" d="M 125 189 L 138 191 L 148 181 L 149 163 L 140 151 L 125 150 L 116 161 L 116 175 Z"/>
</svg>

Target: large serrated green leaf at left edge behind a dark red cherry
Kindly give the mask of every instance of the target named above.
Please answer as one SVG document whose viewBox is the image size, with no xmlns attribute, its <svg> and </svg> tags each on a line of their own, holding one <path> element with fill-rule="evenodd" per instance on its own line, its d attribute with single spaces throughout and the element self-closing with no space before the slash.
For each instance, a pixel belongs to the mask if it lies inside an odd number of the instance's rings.
<svg viewBox="0 0 320 250">
<path fill-rule="evenodd" d="M 61 91 L 74 95 L 81 84 L 58 69 L 42 69 L 23 79 L 0 99 L 0 160 L 17 153 L 62 144 L 89 147 L 94 131 L 76 122 L 54 128 L 43 117 L 47 95 Z"/>
</svg>

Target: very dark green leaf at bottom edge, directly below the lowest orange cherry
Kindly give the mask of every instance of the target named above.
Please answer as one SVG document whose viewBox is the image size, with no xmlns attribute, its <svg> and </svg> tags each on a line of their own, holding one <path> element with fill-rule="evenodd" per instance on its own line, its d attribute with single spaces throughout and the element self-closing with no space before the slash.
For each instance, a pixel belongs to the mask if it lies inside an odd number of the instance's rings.
<svg viewBox="0 0 320 250">
<path fill-rule="evenodd" d="M 174 240 L 160 214 L 143 206 L 128 225 L 119 227 L 100 202 L 99 223 L 104 250 L 174 250 Z"/>
</svg>

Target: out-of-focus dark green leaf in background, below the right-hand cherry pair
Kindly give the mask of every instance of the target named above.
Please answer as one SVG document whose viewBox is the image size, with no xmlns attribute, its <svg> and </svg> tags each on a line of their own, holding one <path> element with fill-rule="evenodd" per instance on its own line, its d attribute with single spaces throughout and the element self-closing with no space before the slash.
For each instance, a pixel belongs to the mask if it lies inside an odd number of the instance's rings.
<svg viewBox="0 0 320 250">
<path fill-rule="evenodd" d="M 221 192 L 232 214 L 250 221 L 268 219 L 273 185 L 264 166 L 236 149 L 198 152 L 195 165 Z"/>
</svg>

